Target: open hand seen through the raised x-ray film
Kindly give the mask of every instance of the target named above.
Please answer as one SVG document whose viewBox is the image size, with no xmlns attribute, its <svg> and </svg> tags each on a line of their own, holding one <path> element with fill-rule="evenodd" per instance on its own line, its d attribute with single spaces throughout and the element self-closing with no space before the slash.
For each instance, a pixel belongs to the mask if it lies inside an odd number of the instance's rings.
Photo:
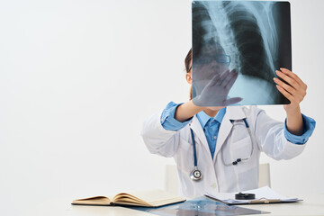
<svg viewBox="0 0 324 216">
<path fill-rule="evenodd" d="M 197 106 L 207 106 L 209 109 L 220 109 L 220 107 L 238 103 L 240 97 L 228 98 L 229 90 L 238 78 L 238 72 L 233 69 L 226 70 L 211 78 L 211 81 L 202 89 L 202 93 L 193 98 L 193 103 Z"/>
</svg>

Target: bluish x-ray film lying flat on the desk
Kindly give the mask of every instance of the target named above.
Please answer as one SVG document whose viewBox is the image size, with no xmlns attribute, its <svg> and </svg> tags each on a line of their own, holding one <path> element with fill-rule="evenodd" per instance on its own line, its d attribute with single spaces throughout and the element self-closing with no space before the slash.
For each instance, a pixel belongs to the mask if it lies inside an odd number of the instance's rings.
<svg viewBox="0 0 324 216">
<path fill-rule="evenodd" d="M 197 197 L 186 202 L 170 204 L 159 208 L 128 207 L 133 210 L 146 211 L 160 216 L 233 216 L 247 214 L 263 214 L 268 211 L 257 211 L 238 206 L 229 206 L 221 202 L 215 202 L 206 197 Z"/>
</svg>

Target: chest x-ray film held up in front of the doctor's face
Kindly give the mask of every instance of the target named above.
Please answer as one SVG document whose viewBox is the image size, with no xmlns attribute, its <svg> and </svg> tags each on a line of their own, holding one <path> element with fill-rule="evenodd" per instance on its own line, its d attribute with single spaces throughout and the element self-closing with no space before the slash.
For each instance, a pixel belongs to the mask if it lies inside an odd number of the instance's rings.
<svg viewBox="0 0 324 216">
<path fill-rule="evenodd" d="M 193 103 L 288 104 L 275 70 L 292 70 L 289 2 L 193 1 Z"/>
</svg>

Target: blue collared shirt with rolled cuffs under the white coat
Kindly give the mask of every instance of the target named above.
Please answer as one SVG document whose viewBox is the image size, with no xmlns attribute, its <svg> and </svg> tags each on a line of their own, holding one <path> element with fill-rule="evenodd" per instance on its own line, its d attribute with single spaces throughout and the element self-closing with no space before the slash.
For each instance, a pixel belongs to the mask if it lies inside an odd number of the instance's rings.
<svg viewBox="0 0 324 216">
<path fill-rule="evenodd" d="M 181 130 L 185 125 L 189 123 L 189 121 L 192 120 L 192 118 L 183 122 L 175 120 L 175 109 L 180 104 L 182 103 L 170 102 L 166 105 L 166 108 L 161 115 L 161 125 L 165 130 Z M 213 157 L 213 154 L 215 152 L 220 124 L 225 113 L 226 107 L 220 109 L 220 111 L 217 112 L 216 116 L 213 118 L 203 111 L 197 113 L 197 118 L 202 125 L 202 130 L 205 133 L 208 146 L 211 150 L 211 157 Z M 296 136 L 289 132 L 286 127 L 286 121 L 284 121 L 284 136 L 287 140 L 294 144 L 301 145 L 306 143 L 307 140 L 311 137 L 311 133 L 315 129 L 316 122 L 311 117 L 302 114 L 302 121 L 304 123 L 304 132 L 301 136 Z"/>
</svg>

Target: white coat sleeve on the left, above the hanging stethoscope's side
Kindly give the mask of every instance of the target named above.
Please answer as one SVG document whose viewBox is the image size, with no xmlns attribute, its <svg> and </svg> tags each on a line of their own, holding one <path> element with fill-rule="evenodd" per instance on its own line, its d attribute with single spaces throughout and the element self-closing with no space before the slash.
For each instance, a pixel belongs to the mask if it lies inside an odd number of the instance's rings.
<svg viewBox="0 0 324 216">
<path fill-rule="evenodd" d="M 161 113 L 157 112 L 144 121 L 140 135 L 150 153 L 173 157 L 179 146 L 179 131 L 165 130 L 160 122 Z"/>
</svg>

